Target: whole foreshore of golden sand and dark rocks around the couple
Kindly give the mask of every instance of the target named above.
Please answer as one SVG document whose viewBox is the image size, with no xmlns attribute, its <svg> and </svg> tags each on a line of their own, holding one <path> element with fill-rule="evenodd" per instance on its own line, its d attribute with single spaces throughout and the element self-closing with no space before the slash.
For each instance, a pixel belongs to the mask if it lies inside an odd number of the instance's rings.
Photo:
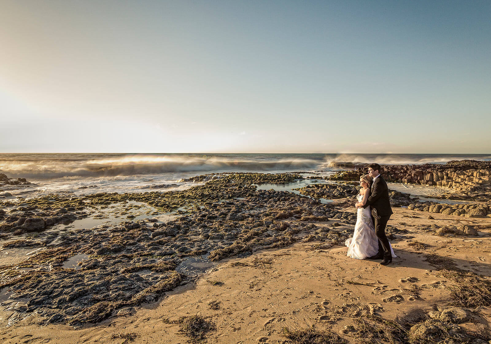
<svg viewBox="0 0 491 344">
<path fill-rule="evenodd" d="M 490 341 L 491 216 L 472 199 L 487 186 L 453 203 L 394 191 L 387 233 L 398 257 L 382 266 L 346 256 L 355 178 L 337 176 L 300 194 L 251 184 L 295 173 L 231 173 L 171 193 L 4 200 L 2 343 Z M 119 224 L 59 227 L 70 214 L 109 218 L 118 202 Z M 18 212 L 43 228 L 10 221 Z"/>
</svg>

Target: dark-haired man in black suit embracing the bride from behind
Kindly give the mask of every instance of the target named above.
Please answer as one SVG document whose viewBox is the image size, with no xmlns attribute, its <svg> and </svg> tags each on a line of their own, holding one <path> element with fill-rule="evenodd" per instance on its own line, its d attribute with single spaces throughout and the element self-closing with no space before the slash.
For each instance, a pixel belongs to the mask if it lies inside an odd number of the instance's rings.
<svg viewBox="0 0 491 344">
<path fill-rule="evenodd" d="M 390 251 L 389 240 L 385 235 L 385 227 L 393 212 L 390 207 L 389 189 L 380 172 L 381 167 L 379 164 L 370 164 L 368 166 L 368 175 L 373 178 L 371 194 L 365 205 L 356 203 L 356 207 L 372 207 L 372 221 L 377 237 L 379 238 L 379 253 L 369 259 L 383 258 L 381 264 L 387 265 L 392 262 L 392 253 Z"/>
</svg>

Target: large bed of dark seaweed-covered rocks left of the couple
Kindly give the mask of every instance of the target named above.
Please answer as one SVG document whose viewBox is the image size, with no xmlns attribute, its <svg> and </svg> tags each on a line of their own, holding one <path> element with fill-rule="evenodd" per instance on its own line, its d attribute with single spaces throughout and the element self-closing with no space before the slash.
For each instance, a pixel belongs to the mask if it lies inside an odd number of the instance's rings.
<svg viewBox="0 0 491 344">
<path fill-rule="evenodd" d="M 278 175 L 276 182 L 285 180 L 290 179 Z M 293 193 L 256 190 L 253 184 L 258 181 L 275 180 L 260 173 L 226 174 L 185 191 L 24 200 L 26 204 L 3 214 L 4 239 L 11 238 L 3 246 L 42 250 L 18 264 L 0 267 L 0 288 L 7 287 L 15 301 L 10 311 L 42 315 L 45 323 L 98 322 L 153 302 L 192 280 L 194 275 L 180 270 L 188 257 L 217 261 L 303 238 L 332 245 L 350 235 L 339 223 L 320 229 L 312 222 L 334 218 L 354 224 L 353 213 Z M 78 209 L 128 200 L 163 210 L 187 205 L 192 211 L 166 223 L 126 221 L 93 229 L 41 231 L 35 239 L 20 236 L 26 224 L 25 229 L 46 226 L 43 214 L 85 216 Z M 64 267 L 68 259 L 77 257 L 82 257 L 77 268 Z"/>
</svg>

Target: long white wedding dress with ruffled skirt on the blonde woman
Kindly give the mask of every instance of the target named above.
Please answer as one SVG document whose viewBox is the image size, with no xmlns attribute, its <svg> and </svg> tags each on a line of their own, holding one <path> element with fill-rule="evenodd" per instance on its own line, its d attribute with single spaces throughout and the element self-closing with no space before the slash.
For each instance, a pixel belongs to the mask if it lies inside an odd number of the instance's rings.
<svg viewBox="0 0 491 344">
<path fill-rule="evenodd" d="M 363 200 L 363 196 L 356 196 L 358 202 Z M 348 246 L 348 257 L 355 259 L 365 259 L 375 256 L 379 252 L 379 239 L 375 233 L 375 227 L 372 222 L 370 207 L 358 208 L 356 212 L 356 225 L 353 237 L 345 242 Z M 389 243 L 390 244 L 390 243 Z M 390 246 L 392 257 L 394 254 L 392 245 Z"/>
</svg>

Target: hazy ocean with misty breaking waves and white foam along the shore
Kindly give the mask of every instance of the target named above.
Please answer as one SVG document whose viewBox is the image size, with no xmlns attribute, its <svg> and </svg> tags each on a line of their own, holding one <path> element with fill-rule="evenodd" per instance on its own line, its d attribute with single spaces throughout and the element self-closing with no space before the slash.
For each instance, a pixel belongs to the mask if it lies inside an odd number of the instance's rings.
<svg viewBox="0 0 491 344">
<path fill-rule="evenodd" d="M 491 161 L 491 154 L 0 153 L 0 173 L 32 182 L 18 189 L 2 187 L 12 197 L 30 198 L 179 190 L 193 184 L 182 179 L 218 172 L 329 174 L 339 170 L 330 165 L 333 161 L 420 165 L 464 159 Z"/>
</svg>

